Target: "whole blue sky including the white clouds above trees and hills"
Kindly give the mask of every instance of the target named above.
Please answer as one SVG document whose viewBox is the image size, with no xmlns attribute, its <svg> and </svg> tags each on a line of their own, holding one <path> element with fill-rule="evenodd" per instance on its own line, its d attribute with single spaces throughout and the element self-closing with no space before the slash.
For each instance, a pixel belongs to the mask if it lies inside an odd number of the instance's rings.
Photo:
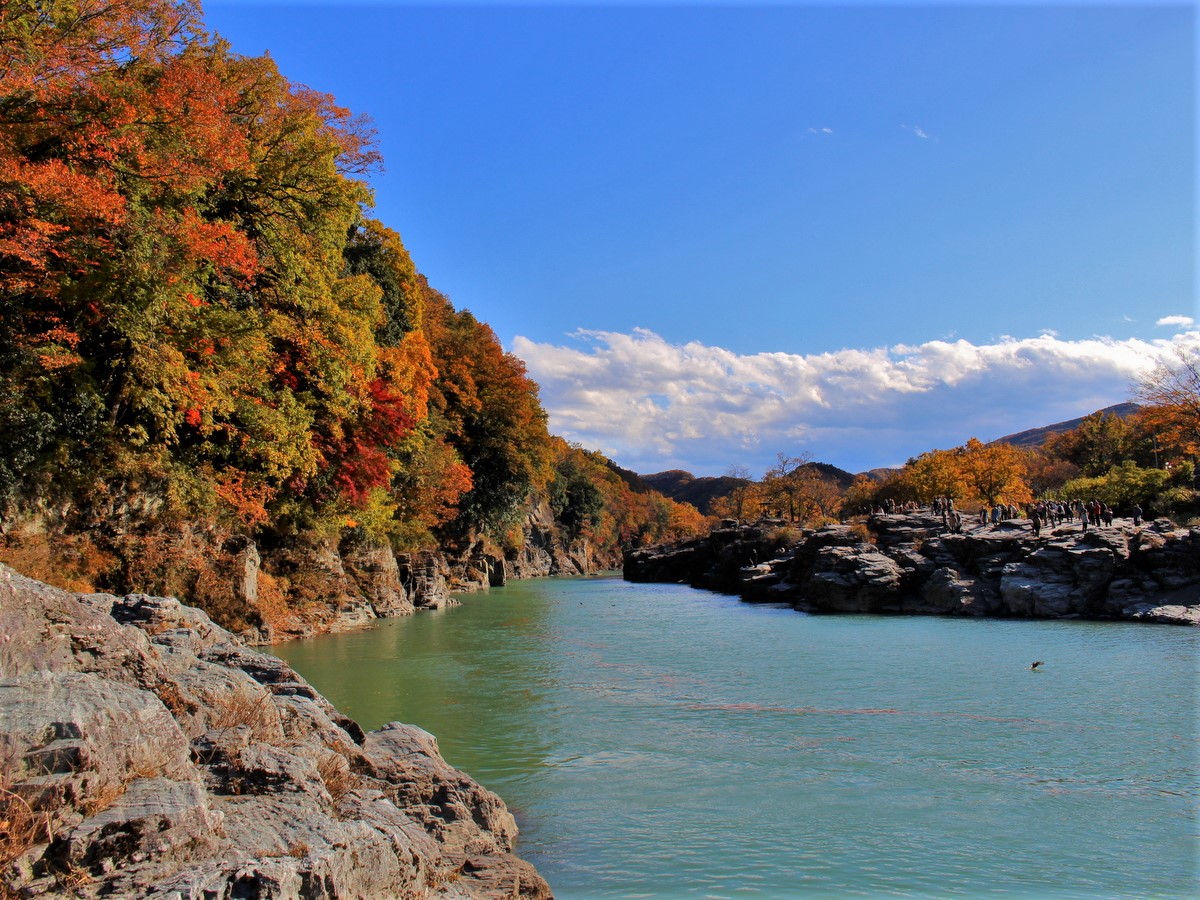
<svg viewBox="0 0 1200 900">
<path fill-rule="evenodd" d="M 895 464 L 1200 341 L 1192 5 L 205 12 L 374 120 L 376 215 L 640 472 Z"/>
</svg>

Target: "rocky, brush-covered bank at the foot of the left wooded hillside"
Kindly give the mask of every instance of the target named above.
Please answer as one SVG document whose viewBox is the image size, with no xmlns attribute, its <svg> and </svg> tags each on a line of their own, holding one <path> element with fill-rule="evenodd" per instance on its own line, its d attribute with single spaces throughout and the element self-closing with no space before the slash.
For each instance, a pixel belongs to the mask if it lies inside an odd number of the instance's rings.
<svg viewBox="0 0 1200 900">
<path fill-rule="evenodd" d="M 88 528 L 49 515 L 0 516 L 0 560 L 73 590 L 184 598 L 246 643 L 263 644 L 440 608 L 455 594 L 510 578 L 616 569 L 620 552 L 566 542 L 541 502 L 526 510 L 514 547 L 474 539 L 400 553 L 353 528 L 265 532 L 256 541 L 197 522 L 154 528 L 126 508 Z"/>
</svg>

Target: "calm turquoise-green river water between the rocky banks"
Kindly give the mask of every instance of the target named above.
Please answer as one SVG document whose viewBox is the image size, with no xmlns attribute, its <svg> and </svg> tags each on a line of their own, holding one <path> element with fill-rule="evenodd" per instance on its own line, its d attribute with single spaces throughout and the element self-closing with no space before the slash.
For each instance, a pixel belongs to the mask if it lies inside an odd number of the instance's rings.
<svg viewBox="0 0 1200 900">
<path fill-rule="evenodd" d="M 364 727 L 437 734 L 566 900 L 1200 893 L 1200 629 L 602 577 L 274 649 Z"/>
</svg>

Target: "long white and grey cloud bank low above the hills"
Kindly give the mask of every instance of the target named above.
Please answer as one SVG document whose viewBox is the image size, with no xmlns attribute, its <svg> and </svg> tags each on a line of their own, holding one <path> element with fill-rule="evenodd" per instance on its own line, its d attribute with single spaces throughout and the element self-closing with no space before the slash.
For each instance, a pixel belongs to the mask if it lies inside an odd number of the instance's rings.
<svg viewBox="0 0 1200 900">
<path fill-rule="evenodd" d="M 554 433 L 643 474 L 719 475 L 736 463 L 758 474 L 776 452 L 800 451 L 862 472 L 1086 415 L 1128 400 L 1132 382 L 1181 346 L 1200 352 L 1200 331 L 804 356 L 738 355 L 638 329 L 577 331 L 566 346 L 517 337 L 512 350 L 541 386 Z"/>
</svg>

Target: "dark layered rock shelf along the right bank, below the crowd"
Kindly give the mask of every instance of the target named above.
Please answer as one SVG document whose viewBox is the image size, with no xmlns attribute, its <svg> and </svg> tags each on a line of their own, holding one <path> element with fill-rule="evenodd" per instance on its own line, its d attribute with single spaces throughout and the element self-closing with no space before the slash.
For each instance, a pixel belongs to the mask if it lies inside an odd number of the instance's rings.
<svg viewBox="0 0 1200 900">
<path fill-rule="evenodd" d="M 920 514 L 803 532 L 737 524 L 628 552 L 624 576 L 803 612 L 1200 624 L 1200 528 L 1168 520 L 1039 538 L 1020 520 L 952 534 Z"/>
</svg>

